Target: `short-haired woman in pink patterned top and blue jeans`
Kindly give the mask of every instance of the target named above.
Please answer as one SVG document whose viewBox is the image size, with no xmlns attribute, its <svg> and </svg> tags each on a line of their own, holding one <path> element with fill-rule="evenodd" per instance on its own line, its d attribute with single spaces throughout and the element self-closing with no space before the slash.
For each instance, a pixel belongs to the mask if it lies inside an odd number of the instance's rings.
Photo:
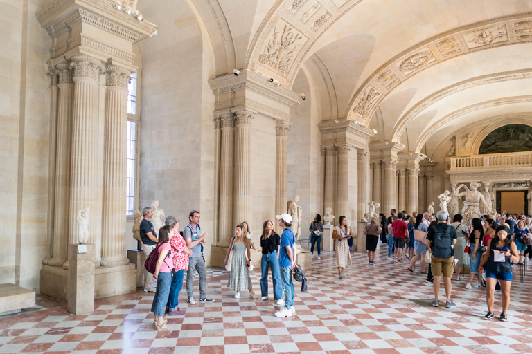
<svg viewBox="0 0 532 354">
<path fill-rule="evenodd" d="M 190 248 L 186 247 L 186 242 L 179 232 L 179 220 L 173 215 L 168 216 L 165 220 L 166 225 L 172 227 L 172 263 L 175 270 L 175 277 L 172 279 L 170 286 L 170 296 L 168 297 L 168 316 L 184 315 L 186 310 L 181 310 L 178 306 L 179 291 L 183 288 L 183 272 L 188 270 L 188 257 L 192 253 Z"/>
</svg>

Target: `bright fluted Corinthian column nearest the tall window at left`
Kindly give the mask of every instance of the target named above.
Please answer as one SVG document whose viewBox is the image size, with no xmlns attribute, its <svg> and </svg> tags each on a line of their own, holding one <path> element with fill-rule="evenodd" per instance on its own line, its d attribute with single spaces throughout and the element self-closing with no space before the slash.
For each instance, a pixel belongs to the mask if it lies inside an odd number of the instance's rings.
<svg viewBox="0 0 532 354">
<path fill-rule="evenodd" d="M 127 82 L 130 71 L 108 65 L 105 94 L 102 260 L 100 265 L 125 265 L 125 185 L 127 182 Z"/>
</svg>

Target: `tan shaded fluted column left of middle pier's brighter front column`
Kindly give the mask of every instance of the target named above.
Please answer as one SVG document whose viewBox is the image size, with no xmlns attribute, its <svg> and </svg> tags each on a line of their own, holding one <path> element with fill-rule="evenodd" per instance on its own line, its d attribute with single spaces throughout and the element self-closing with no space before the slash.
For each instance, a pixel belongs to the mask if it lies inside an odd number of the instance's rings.
<svg viewBox="0 0 532 354">
<path fill-rule="evenodd" d="M 234 233 L 233 225 L 233 171 L 235 156 L 235 118 L 233 113 L 220 115 L 220 219 L 218 222 L 218 243 L 220 247 L 229 247 Z"/>
</svg>

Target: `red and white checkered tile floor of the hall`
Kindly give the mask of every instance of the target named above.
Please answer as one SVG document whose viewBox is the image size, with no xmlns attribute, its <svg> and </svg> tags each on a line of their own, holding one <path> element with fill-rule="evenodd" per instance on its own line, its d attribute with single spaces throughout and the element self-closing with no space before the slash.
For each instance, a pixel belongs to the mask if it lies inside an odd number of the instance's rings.
<svg viewBox="0 0 532 354">
<path fill-rule="evenodd" d="M 456 308 L 432 308 L 432 286 L 419 267 L 410 274 L 407 262 L 387 261 L 385 252 L 381 247 L 375 266 L 353 253 L 344 279 L 337 277 L 333 252 L 323 252 L 321 261 L 314 254 L 308 292 L 295 284 L 296 315 L 285 319 L 274 317 L 279 307 L 272 301 L 244 293 L 233 299 L 221 270 L 209 270 L 215 303 L 188 305 L 181 290 L 187 313 L 168 318 L 172 332 L 153 329 L 153 295 L 142 291 L 97 300 L 84 316 L 37 296 L 41 309 L 0 317 L 0 353 L 532 353 L 532 274 L 520 283 L 515 273 L 509 322 L 484 321 L 484 290 L 453 281 Z M 257 294 L 259 277 L 258 270 L 251 277 Z M 441 300 L 443 294 L 442 284 Z M 496 294 L 496 315 L 499 308 Z"/>
</svg>

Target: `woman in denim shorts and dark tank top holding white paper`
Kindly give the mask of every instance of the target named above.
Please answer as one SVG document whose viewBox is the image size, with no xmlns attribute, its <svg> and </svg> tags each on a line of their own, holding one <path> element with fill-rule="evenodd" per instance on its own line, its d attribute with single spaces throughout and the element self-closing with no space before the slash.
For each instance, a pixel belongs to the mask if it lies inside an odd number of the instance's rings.
<svg viewBox="0 0 532 354">
<path fill-rule="evenodd" d="M 492 319 L 493 303 L 495 302 L 495 285 L 497 281 L 501 283 L 502 311 L 499 319 L 508 321 L 506 311 L 510 306 L 510 287 L 512 286 L 513 272 L 512 261 L 519 259 L 517 246 L 510 236 L 510 228 L 501 225 L 495 230 L 495 236 L 488 241 L 488 250 L 482 257 L 480 266 L 486 270 L 486 303 L 488 313 L 483 319 Z"/>
</svg>

